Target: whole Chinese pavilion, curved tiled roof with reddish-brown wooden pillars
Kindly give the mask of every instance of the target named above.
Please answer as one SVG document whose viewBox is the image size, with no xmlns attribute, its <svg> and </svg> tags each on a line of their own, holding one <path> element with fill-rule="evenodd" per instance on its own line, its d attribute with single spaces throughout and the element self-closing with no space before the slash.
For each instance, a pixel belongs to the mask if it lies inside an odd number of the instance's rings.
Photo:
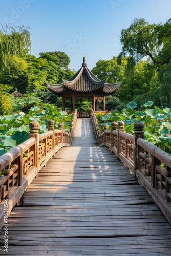
<svg viewBox="0 0 171 256">
<path fill-rule="evenodd" d="M 75 110 L 75 100 L 80 98 L 92 99 L 93 110 L 97 111 L 97 100 L 103 99 L 103 111 L 105 111 L 105 96 L 114 93 L 122 84 L 107 83 L 108 77 L 99 80 L 87 67 L 86 58 L 83 58 L 82 67 L 69 80 L 62 77 L 62 83 L 50 84 L 45 81 L 46 86 L 52 93 L 62 96 L 62 111 L 65 111 L 65 100 L 71 100 L 71 111 Z"/>
</svg>

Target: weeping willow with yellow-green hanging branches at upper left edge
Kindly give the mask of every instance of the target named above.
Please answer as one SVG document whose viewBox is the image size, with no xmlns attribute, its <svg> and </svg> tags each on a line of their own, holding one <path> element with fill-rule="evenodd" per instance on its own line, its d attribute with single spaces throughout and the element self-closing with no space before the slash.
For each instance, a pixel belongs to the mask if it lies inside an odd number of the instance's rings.
<svg viewBox="0 0 171 256">
<path fill-rule="evenodd" d="M 15 72 L 15 58 L 24 57 L 31 48 L 30 32 L 23 26 L 18 28 L 0 25 L 0 73 Z M 14 57 L 15 56 L 15 57 Z"/>
</svg>

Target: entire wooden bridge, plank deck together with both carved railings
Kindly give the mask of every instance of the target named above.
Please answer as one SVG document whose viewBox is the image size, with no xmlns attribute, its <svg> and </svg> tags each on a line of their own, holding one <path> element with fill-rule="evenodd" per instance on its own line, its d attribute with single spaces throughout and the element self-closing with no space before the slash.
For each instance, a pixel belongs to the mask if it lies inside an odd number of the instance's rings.
<svg viewBox="0 0 171 256">
<path fill-rule="evenodd" d="M 167 166 L 161 169 L 167 189 L 163 187 L 163 191 L 159 191 L 157 186 L 160 182 L 164 186 L 164 180 L 159 180 L 157 155 L 155 159 L 153 155 L 150 158 L 140 146 L 135 150 L 136 145 L 141 143 L 143 146 L 144 143 L 136 137 L 141 137 L 140 124 L 133 137 L 121 131 L 122 123 L 118 131 L 114 123 L 111 131 L 105 127 L 106 131 L 100 134 L 93 112 L 92 121 L 82 118 L 76 122 L 76 116 L 69 133 L 63 132 L 62 126 L 54 130 L 53 121 L 50 121 L 49 131 L 38 137 L 33 123 L 29 141 L 0 157 L 1 169 L 8 165 L 6 175 L 0 181 L 1 206 L 8 199 L 11 211 L 28 186 L 8 217 L 8 253 L 4 252 L 6 224 L 3 226 L 0 254 L 171 255 L 169 194 L 164 195 L 167 200 L 163 199 L 164 193 L 170 193 L 168 156 Z M 38 154 L 36 141 L 39 142 Z M 148 150 L 154 150 L 153 145 Z M 54 152 L 57 153 L 54 155 Z M 162 160 L 165 162 L 164 155 Z M 139 167 L 138 162 L 142 163 Z M 153 168 L 158 170 L 155 172 L 158 175 L 156 188 L 149 185 L 149 180 L 153 180 Z M 137 176 L 141 184 L 137 182 Z M 155 197 L 168 220 L 154 203 Z M 1 223 L 3 221 L 4 211 Z"/>
</svg>

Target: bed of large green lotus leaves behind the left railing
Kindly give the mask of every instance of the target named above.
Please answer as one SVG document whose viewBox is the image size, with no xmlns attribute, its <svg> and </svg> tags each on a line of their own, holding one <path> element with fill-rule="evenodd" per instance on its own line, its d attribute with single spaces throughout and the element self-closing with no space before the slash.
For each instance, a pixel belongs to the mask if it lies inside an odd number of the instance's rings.
<svg viewBox="0 0 171 256">
<path fill-rule="evenodd" d="M 58 123 L 65 124 L 64 130 L 70 129 L 73 115 L 67 115 L 65 111 L 58 111 L 53 105 L 48 104 L 47 109 L 40 109 L 33 106 L 27 110 L 28 114 L 20 112 L 0 117 L 0 156 L 28 139 L 29 122 L 36 120 L 39 123 L 39 133 L 48 130 L 48 120 L 55 120 L 55 127 Z"/>
</svg>

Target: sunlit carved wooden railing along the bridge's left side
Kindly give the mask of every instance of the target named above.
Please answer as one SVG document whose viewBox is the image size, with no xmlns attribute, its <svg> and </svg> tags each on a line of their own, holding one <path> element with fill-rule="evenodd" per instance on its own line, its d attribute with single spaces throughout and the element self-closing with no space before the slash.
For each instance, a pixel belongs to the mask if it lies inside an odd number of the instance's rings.
<svg viewBox="0 0 171 256">
<path fill-rule="evenodd" d="M 73 114 L 72 125 L 68 133 L 59 123 L 54 129 L 54 120 L 48 121 L 48 132 L 38 134 L 39 123 L 29 123 L 29 139 L 0 156 L 0 227 L 4 223 L 4 203 L 8 199 L 8 215 L 19 202 L 27 186 L 47 161 L 63 146 L 70 146 L 73 137 L 77 113 Z"/>
</svg>

